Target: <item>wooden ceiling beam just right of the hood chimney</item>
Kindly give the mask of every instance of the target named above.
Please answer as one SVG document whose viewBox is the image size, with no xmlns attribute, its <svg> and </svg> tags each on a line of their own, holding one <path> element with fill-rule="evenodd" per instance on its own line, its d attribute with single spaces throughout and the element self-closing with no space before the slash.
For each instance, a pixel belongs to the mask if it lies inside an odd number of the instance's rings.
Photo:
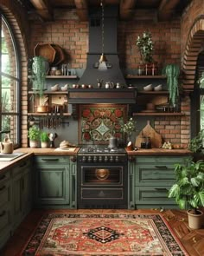
<svg viewBox="0 0 204 256">
<path fill-rule="evenodd" d="M 131 19 L 137 0 L 120 0 L 120 19 Z"/>
</svg>

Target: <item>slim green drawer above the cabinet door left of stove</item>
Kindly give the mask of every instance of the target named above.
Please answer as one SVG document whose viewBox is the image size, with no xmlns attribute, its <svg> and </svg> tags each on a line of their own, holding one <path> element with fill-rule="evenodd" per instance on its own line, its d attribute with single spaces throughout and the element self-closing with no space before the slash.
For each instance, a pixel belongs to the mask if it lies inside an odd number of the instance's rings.
<svg viewBox="0 0 204 256">
<path fill-rule="evenodd" d="M 41 155 L 35 156 L 35 163 L 37 164 L 59 164 L 68 163 L 69 156 L 59 156 L 59 155 Z"/>
</svg>

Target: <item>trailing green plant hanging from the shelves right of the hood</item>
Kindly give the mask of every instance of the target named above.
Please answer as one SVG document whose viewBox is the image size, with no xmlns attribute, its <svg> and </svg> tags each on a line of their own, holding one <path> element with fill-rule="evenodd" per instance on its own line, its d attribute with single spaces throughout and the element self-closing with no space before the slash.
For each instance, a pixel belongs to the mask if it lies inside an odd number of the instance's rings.
<svg viewBox="0 0 204 256">
<path fill-rule="evenodd" d="M 168 64 L 163 69 L 163 74 L 167 75 L 167 86 L 169 90 L 169 104 L 175 106 L 179 100 L 179 83 L 178 77 L 180 69 L 176 64 Z"/>
</svg>

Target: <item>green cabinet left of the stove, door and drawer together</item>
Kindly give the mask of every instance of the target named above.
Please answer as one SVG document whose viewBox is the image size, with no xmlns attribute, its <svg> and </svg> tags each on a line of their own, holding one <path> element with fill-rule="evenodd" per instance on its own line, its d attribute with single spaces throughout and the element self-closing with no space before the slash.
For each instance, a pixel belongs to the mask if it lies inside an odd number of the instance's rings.
<svg viewBox="0 0 204 256">
<path fill-rule="evenodd" d="M 75 207 L 69 156 L 35 156 L 35 206 Z"/>
</svg>

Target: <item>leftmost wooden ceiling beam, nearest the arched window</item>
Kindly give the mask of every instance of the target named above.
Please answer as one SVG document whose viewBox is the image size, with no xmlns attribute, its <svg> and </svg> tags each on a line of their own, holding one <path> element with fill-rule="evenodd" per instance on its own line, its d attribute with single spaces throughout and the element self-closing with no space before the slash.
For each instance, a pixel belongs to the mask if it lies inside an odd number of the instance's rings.
<svg viewBox="0 0 204 256">
<path fill-rule="evenodd" d="M 41 16 L 44 21 L 50 21 L 54 19 L 53 9 L 48 0 L 30 0 L 34 5 L 36 12 Z"/>
</svg>

